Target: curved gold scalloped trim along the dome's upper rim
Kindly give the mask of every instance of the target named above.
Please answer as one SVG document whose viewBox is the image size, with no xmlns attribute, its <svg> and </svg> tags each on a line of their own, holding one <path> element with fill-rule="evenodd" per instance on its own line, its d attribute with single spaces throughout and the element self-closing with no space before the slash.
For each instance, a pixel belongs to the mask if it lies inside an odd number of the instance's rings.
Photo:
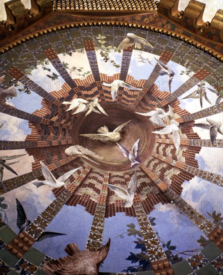
<svg viewBox="0 0 223 275">
<path fill-rule="evenodd" d="M 53 31 L 58 31 L 58 30 L 62 30 L 62 29 L 66 29 L 66 28 L 73 28 L 73 27 L 84 27 L 84 26 L 123 26 L 123 27 L 132 27 L 132 28 L 141 28 L 141 29 L 146 29 L 146 30 L 150 30 L 150 31 L 154 31 L 154 32 L 158 32 L 158 33 L 163 33 L 165 35 L 177 38 L 181 41 L 184 41 L 188 44 L 191 44 L 203 51 L 206 51 L 207 53 L 209 53 L 210 55 L 214 56 L 215 58 L 219 59 L 220 61 L 223 61 L 223 55 L 220 54 L 219 52 L 213 50 L 212 48 L 196 41 L 193 38 L 187 37 L 181 33 L 177 33 L 175 31 L 166 29 L 166 28 L 162 28 L 162 27 L 158 27 L 158 26 L 154 26 L 154 25 L 149 25 L 149 24 L 141 24 L 141 23 L 134 23 L 134 22 L 126 22 L 126 21 L 110 21 L 110 20 L 95 20 L 95 21 L 81 21 L 81 22 L 71 22 L 71 23 L 66 23 L 66 24 L 59 24 L 57 26 L 53 26 L 53 27 L 48 27 L 48 28 L 44 28 L 42 30 L 36 31 L 34 33 L 30 33 L 22 38 L 16 39 L 15 41 L 3 46 L 0 48 L 0 54 L 8 51 L 9 49 L 20 45 L 21 43 L 27 41 L 27 40 L 31 40 L 35 37 L 38 37 L 40 35 L 46 34 L 46 33 L 50 33 Z"/>
</svg>

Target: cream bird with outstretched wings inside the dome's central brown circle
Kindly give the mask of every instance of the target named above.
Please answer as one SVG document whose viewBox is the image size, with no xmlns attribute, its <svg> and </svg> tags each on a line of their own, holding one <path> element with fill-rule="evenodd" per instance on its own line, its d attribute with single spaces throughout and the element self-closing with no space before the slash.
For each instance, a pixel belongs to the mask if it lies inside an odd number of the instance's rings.
<svg viewBox="0 0 223 275">
<path fill-rule="evenodd" d="M 103 127 L 98 128 L 98 130 L 97 130 L 98 133 L 84 133 L 84 134 L 80 134 L 80 135 L 89 137 L 91 139 L 100 140 L 103 142 L 118 141 L 121 138 L 121 136 L 120 136 L 121 129 L 124 126 L 126 126 L 130 121 L 131 120 L 119 125 L 112 132 L 109 132 L 107 126 L 104 125 Z"/>
</svg>

